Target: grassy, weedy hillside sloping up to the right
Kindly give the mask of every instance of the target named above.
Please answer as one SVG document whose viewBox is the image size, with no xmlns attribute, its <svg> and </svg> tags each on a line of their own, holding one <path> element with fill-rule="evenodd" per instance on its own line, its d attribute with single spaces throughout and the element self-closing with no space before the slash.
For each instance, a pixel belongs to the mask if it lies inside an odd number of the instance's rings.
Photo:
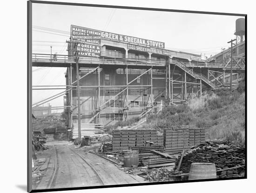
<svg viewBox="0 0 256 193">
<path fill-rule="evenodd" d="M 134 125 L 136 119 L 117 122 L 108 130 Z M 140 126 L 145 129 L 199 128 L 206 129 L 206 140 L 222 139 L 235 144 L 245 140 L 245 93 L 244 84 L 229 92 L 208 91 L 202 97 L 188 103 L 172 105 L 162 109 L 157 115 L 150 115 Z"/>
</svg>

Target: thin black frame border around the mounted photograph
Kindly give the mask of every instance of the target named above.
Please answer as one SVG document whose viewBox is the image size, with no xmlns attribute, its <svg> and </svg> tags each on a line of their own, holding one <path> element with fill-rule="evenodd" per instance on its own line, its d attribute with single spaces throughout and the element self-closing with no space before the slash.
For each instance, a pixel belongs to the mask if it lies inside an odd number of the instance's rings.
<svg viewBox="0 0 256 193">
<path fill-rule="evenodd" d="M 244 177 L 32 190 L 32 160 L 31 160 L 31 157 L 32 157 L 32 151 L 31 151 L 32 150 L 31 149 L 31 145 L 32 145 L 31 144 L 31 141 L 32 141 L 32 19 L 33 19 L 32 18 L 32 3 L 68 5 L 68 6 L 105 7 L 105 8 L 119 8 L 119 9 L 135 9 L 135 10 L 178 12 L 178 13 L 199 13 L 199 14 L 229 15 L 229 16 L 245 17 L 245 175 L 244 175 Z M 132 187 L 132 186 L 161 185 L 161 184 L 174 184 L 174 183 L 176 184 L 176 183 L 219 181 L 219 180 L 241 180 L 241 179 L 247 179 L 247 171 L 248 171 L 247 170 L 247 14 L 189 11 L 189 10 L 161 9 L 161 8 L 133 7 L 133 6 L 113 6 L 113 5 L 98 5 L 98 4 L 83 4 L 83 3 L 67 3 L 67 2 L 40 1 L 40 0 L 28 0 L 27 1 L 27 192 L 28 193 L 67 191 L 67 190 L 84 190 L 84 189 L 109 188 L 109 187 Z"/>
</svg>

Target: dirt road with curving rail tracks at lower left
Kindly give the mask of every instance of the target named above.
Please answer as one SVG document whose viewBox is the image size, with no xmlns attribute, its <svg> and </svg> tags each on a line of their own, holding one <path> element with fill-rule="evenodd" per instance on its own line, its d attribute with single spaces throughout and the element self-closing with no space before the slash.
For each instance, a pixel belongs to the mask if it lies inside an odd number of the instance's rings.
<svg viewBox="0 0 256 193">
<path fill-rule="evenodd" d="M 91 187 L 145 183 L 143 178 L 126 174 L 113 163 L 84 148 L 67 142 L 47 142 L 50 148 L 40 157 L 46 158 L 46 169 L 34 189 Z M 56 156 L 55 156 L 56 154 Z M 57 166 L 55 169 L 55 165 Z M 55 171 L 55 175 L 54 175 Z"/>
</svg>

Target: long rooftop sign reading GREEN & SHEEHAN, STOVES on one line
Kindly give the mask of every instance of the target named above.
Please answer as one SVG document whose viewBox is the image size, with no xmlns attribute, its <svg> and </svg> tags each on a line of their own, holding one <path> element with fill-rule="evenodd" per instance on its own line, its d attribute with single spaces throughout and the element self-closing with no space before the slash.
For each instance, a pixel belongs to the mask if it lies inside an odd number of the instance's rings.
<svg viewBox="0 0 256 193">
<path fill-rule="evenodd" d="M 101 38 L 121 41 L 129 44 L 143 45 L 143 46 L 152 47 L 152 48 L 164 48 L 164 42 L 136 38 L 136 37 L 126 36 L 126 35 L 121 35 L 116 33 L 110 33 L 110 32 L 101 32 Z"/>
</svg>

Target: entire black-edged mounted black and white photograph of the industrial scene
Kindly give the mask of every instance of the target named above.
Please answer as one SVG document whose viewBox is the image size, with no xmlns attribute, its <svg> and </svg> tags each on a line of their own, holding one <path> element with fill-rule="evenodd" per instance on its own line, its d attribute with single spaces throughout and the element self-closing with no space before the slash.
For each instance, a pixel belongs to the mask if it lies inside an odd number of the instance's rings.
<svg viewBox="0 0 256 193">
<path fill-rule="evenodd" d="M 28 192 L 247 178 L 247 15 L 28 1 Z"/>
</svg>

